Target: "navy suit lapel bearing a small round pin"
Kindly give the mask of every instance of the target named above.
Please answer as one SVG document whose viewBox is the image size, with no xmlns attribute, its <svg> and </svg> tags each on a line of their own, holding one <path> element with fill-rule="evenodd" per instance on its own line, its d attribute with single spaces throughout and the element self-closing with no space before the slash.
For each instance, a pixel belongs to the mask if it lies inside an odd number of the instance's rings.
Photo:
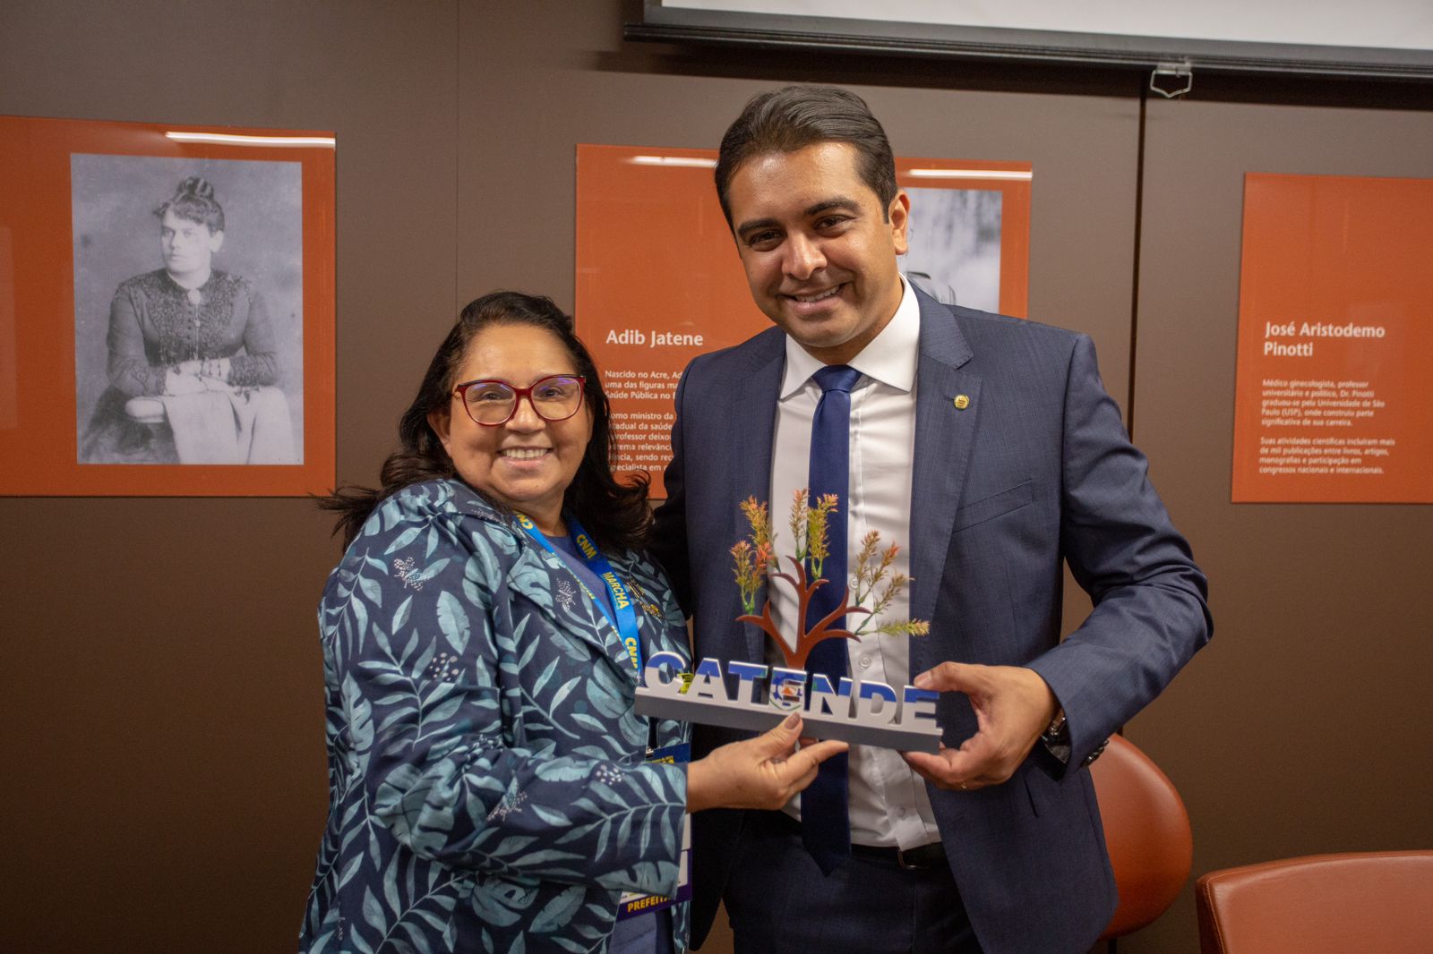
<svg viewBox="0 0 1433 954">
<path fill-rule="evenodd" d="M 919 289 L 916 298 L 920 302 L 920 362 L 911 464 L 910 573 L 914 580 L 910 615 L 930 620 L 970 464 L 980 415 L 980 378 L 960 371 L 972 350 L 952 311 Z M 959 401 L 960 395 L 966 400 Z M 941 655 L 930 640 L 911 640 L 911 673 L 930 668 Z"/>
</svg>

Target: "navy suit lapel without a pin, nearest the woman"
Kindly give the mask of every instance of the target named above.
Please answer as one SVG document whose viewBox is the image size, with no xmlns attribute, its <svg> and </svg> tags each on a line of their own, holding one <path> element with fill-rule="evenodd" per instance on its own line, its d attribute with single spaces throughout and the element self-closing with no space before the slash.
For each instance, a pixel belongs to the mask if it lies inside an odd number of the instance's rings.
<svg viewBox="0 0 1433 954">
<path fill-rule="evenodd" d="M 785 335 L 777 329 L 759 335 L 751 342 L 751 361 L 747 374 L 731 384 L 732 403 L 729 417 L 716 421 L 731 435 L 729 457 L 721 461 L 731 474 L 731 490 L 727 500 L 731 506 L 731 534 L 724 549 L 751 533 L 751 526 L 741 516 L 739 504 L 747 497 L 765 500 L 772 514 L 785 513 L 784 501 L 771 500 L 771 440 L 775 433 L 777 398 L 781 391 L 781 372 L 785 370 Z M 739 612 L 737 587 L 732 584 L 732 606 Z M 761 662 L 765 653 L 765 636 L 755 626 L 732 623 L 739 629 L 738 645 L 729 646 L 731 657 Z M 744 650 L 744 652 L 742 652 Z"/>
</svg>

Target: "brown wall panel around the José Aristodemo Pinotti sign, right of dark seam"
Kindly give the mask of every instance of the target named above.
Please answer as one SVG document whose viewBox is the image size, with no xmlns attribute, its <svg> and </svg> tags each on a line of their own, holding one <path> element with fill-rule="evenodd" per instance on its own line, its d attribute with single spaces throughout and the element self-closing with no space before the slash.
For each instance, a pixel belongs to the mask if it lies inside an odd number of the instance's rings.
<svg viewBox="0 0 1433 954">
<path fill-rule="evenodd" d="M 1184 794 L 1197 874 L 1433 848 L 1433 507 L 1228 503 L 1244 173 L 1433 176 L 1430 90 L 1353 89 L 1149 105 L 1135 438 L 1209 574 L 1215 642 L 1129 736 Z M 1187 950 L 1192 924 L 1187 891 L 1128 947 Z"/>
</svg>

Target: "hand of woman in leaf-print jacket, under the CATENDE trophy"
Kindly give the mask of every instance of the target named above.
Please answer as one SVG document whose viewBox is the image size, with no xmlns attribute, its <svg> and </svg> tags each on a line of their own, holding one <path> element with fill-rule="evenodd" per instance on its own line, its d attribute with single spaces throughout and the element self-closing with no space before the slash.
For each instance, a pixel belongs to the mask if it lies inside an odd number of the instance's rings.
<svg viewBox="0 0 1433 954">
<path fill-rule="evenodd" d="M 817 766 L 845 742 L 815 742 L 798 751 L 801 716 L 765 735 L 724 745 L 686 769 L 686 811 L 704 808 L 781 808 L 815 778 Z"/>
</svg>

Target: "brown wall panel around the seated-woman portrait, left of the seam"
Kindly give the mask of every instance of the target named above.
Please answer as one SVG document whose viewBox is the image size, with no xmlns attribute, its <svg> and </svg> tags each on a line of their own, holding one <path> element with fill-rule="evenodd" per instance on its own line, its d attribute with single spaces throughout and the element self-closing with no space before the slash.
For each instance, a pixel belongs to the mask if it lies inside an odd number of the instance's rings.
<svg viewBox="0 0 1433 954">
<path fill-rule="evenodd" d="M 337 132 L 344 480 L 373 477 L 453 318 L 456 26 L 398 0 L 0 4 L 0 113 Z M 327 811 L 328 521 L 0 500 L 0 951 L 294 950 Z"/>
</svg>

